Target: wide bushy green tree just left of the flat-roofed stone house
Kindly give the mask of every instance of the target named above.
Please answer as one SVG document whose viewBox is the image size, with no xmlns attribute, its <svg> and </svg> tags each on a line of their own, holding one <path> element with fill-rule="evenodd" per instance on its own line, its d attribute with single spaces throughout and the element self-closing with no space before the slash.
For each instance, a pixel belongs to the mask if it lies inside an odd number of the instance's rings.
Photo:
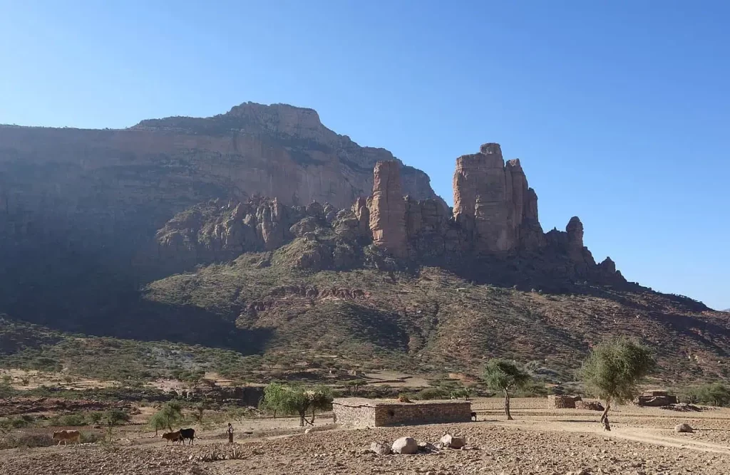
<svg viewBox="0 0 730 475">
<path fill-rule="evenodd" d="M 306 422 L 314 425 L 315 412 L 329 409 L 332 403 L 331 390 L 326 386 L 307 388 L 302 385 L 281 385 L 272 382 L 264 388 L 264 399 L 261 408 L 274 414 L 299 414 L 299 425 Z M 307 420 L 307 414 L 312 412 L 312 420 Z"/>
</svg>

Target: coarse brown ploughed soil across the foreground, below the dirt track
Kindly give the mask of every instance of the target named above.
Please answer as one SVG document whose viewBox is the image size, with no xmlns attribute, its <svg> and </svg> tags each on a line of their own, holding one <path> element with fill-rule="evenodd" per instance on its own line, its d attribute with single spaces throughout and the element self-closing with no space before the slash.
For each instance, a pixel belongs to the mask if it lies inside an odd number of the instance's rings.
<svg viewBox="0 0 730 475">
<path fill-rule="evenodd" d="M 438 441 L 445 428 L 466 436 L 472 449 L 445 449 L 419 455 L 377 456 L 365 452 L 370 442 L 413 436 Z M 533 426 L 477 422 L 408 428 L 330 430 L 237 444 L 244 460 L 197 460 L 225 444 L 193 447 L 50 447 L 13 449 L 0 455 L 1 474 L 727 474 L 730 450 L 666 447 L 616 435 L 553 430 Z M 591 430 L 586 428 L 586 430 Z M 631 433 L 629 433 L 631 436 Z M 661 433 L 691 443 L 701 434 Z M 689 436 L 689 437 L 687 437 Z M 680 439 L 681 438 L 681 439 Z M 672 440 L 668 443 L 672 444 Z M 700 440 L 704 443 L 704 439 Z M 724 449 L 724 452 L 722 450 Z"/>
</svg>

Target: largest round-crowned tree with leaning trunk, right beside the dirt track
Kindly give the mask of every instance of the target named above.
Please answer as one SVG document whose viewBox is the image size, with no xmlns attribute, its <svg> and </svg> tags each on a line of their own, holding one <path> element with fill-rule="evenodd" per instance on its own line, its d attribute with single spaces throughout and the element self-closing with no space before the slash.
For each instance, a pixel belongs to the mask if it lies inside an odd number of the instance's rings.
<svg viewBox="0 0 730 475">
<path fill-rule="evenodd" d="M 606 401 L 601 415 L 604 428 L 611 430 L 611 403 L 631 401 L 639 392 L 639 382 L 654 365 L 647 347 L 626 338 L 606 341 L 591 350 L 581 368 L 581 378 L 589 393 Z"/>
</svg>

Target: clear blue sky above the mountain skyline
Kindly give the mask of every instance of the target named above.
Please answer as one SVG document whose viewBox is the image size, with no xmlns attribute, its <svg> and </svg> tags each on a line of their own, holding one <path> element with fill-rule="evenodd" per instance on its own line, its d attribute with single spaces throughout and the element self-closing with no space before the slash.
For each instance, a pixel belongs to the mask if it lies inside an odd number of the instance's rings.
<svg viewBox="0 0 730 475">
<path fill-rule="evenodd" d="M 0 123 L 126 127 L 317 109 L 452 201 L 458 155 L 520 158 L 630 280 L 730 307 L 730 3 L 0 0 Z"/>
</svg>

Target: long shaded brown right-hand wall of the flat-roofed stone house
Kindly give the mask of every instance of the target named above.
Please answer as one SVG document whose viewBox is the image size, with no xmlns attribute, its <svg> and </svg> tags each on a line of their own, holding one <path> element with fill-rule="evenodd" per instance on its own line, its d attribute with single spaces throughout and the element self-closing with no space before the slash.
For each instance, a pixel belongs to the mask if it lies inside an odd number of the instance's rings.
<svg viewBox="0 0 730 475">
<path fill-rule="evenodd" d="M 469 401 L 378 403 L 375 406 L 377 426 L 439 424 L 470 420 L 472 420 L 472 403 Z"/>
</svg>

